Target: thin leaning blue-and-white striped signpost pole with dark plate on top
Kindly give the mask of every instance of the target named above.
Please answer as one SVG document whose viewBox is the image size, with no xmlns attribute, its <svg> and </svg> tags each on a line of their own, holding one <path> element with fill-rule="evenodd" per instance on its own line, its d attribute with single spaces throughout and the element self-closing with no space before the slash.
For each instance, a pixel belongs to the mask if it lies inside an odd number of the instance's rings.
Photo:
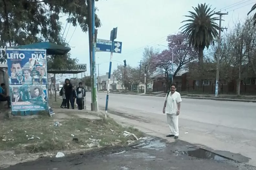
<svg viewBox="0 0 256 170">
<path fill-rule="evenodd" d="M 110 33 L 110 40 L 112 41 L 111 52 L 110 52 L 110 60 L 109 60 L 109 75 L 108 75 L 108 88 L 107 88 L 107 96 L 106 96 L 106 107 L 105 107 L 105 119 L 107 119 L 108 114 L 108 100 L 109 100 L 109 88 L 110 88 L 110 78 L 111 78 L 111 66 L 112 66 L 112 55 L 114 50 L 114 40 L 116 39 L 117 28 L 113 28 Z"/>
</svg>

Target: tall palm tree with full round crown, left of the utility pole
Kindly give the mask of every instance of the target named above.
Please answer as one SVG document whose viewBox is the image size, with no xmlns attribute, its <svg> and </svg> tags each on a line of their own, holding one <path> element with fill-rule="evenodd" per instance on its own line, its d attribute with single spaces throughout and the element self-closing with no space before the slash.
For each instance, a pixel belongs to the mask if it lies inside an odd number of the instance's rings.
<svg viewBox="0 0 256 170">
<path fill-rule="evenodd" d="M 203 63 L 203 50 L 214 44 L 214 38 L 218 36 L 219 25 L 215 21 L 219 17 L 213 17 L 215 9 L 211 10 L 211 6 L 206 4 L 198 4 L 193 9 L 194 12 L 188 11 L 190 15 L 185 15 L 189 19 L 182 21 L 181 23 L 186 24 L 180 28 L 187 35 L 189 45 L 192 44 L 198 50 L 199 63 Z"/>
</svg>

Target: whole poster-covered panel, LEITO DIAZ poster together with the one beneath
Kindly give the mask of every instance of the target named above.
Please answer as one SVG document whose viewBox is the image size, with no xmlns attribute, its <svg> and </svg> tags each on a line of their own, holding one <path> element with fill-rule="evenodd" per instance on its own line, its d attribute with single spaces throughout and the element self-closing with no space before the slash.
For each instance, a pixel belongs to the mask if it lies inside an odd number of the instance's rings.
<svg viewBox="0 0 256 170">
<path fill-rule="evenodd" d="M 12 111 L 47 110 L 46 50 L 6 49 Z"/>
</svg>

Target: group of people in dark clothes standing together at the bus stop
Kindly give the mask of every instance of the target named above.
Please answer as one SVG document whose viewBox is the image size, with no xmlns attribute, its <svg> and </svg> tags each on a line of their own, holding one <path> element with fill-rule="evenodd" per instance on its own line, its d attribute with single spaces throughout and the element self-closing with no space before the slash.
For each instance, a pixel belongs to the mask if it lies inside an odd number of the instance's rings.
<svg viewBox="0 0 256 170">
<path fill-rule="evenodd" d="M 61 108 L 69 109 L 69 103 L 71 108 L 75 109 L 75 99 L 79 110 L 84 109 L 84 97 L 86 90 L 83 87 L 82 82 L 78 84 L 77 89 L 70 83 L 69 79 L 65 80 L 65 84 L 61 88 L 59 95 L 62 96 Z"/>
</svg>

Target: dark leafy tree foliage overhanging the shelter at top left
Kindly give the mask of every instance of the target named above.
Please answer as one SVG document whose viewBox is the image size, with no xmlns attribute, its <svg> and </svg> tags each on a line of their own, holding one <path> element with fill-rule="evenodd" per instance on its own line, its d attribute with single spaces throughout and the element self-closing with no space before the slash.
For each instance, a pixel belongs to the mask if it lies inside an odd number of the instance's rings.
<svg viewBox="0 0 256 170">
<path fill-rule="evenodd" d="M 0 6 L 0 48 L 43 41 L 67 45 L 61 36 L 61 15 L 67 15 L 67 22 L 73 26 L 80 25 L 83 32 L 88 30 L 86 0 L 2 0 Z M 101 26 L 97 15 L 95 26 Z M 50 62 L 63 62 L 58 56 L 53 58 Z M 70 59 L 69 55 L 63 58 Z"/>
</svg>

